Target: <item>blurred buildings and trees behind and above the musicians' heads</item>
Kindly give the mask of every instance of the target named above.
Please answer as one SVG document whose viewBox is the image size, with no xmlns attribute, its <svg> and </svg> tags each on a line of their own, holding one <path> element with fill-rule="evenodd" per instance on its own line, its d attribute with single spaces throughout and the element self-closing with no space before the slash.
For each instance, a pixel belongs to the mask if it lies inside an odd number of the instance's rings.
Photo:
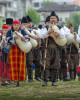
<svg viewBox="0 0 80 100">
<path fill-rule="evenodd" d="M 6 18 L 21 19 L 29 15 L 33 24 L 44 24 L 45 18 L 55 11 L 59 22 L 72 22 L 75 31 L 80 24 L 80 0 L 0 0 L 0 26 Z M 37 16 L 37 17 L 36 17 Z"/>
</svg>

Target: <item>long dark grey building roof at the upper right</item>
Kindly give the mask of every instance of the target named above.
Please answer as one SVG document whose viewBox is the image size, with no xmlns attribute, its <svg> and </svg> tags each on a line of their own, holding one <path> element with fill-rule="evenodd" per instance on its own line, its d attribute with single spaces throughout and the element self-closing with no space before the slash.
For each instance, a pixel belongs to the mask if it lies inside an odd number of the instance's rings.
<svg viewBox="0 0 80 100">
<path fill-rule="evenodd" d="M 80 6 L 77 5 L 69 5 L 69 4 L 56 4 L 53 3 L 51 5 L 45 6 L 37 10 L 38 12 L 50 12 L 50 11 L 80 11 Z"/>
</svg>

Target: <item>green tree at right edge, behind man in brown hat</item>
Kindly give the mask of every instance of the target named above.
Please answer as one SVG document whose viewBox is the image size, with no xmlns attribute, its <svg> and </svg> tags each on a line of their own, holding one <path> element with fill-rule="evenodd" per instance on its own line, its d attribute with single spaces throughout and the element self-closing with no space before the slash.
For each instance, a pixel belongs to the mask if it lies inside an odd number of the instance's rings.
<svg viewBox="0 0 80 100">
<path fill-rule="evenodd" d="M 72 18 L 66 20 L 66 24 L 72 23 L 74 25 L 74 31 L 78 32 L 78 27 L 80 25 L 80 13 L 73 13 Z"/>
</svg>

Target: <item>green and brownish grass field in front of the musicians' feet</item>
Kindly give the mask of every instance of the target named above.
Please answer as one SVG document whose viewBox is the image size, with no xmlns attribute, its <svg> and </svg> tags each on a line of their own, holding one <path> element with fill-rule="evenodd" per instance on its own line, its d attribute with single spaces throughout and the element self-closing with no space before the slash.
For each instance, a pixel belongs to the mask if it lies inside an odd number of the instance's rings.
<svg viewBox="0 0 80 100">
<path fill-rule="evenodd" d="M 0 85 L 0 100 L 80 100 L 80 81 L 57 82 L 57 87 L 48 82 L 42 87 L 42 82 L 21 82 L 20 87 L 13 84 Z"/>
</svg>

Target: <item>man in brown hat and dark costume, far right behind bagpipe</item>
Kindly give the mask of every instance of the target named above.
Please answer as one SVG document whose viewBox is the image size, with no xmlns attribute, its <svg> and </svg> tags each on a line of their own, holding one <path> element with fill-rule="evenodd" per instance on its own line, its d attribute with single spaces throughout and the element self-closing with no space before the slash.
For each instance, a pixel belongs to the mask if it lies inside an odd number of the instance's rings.
<svg viewBox="0 0 80 100">
<path fill-rule="evenodd" d="M 70 29 L 70 32 L 75 36 L 74 32 L 74 26 L 72 23 L 69 23 L 68 28 Z M 78 66 L 78 50 L 74 44 L 70 44 L 67 46 L 67 53 L 68 53 L 68 65 L 69 65 L 69 73 L 70 73 L 70 79 L 75 80 L 76 79 L 76 72 L 77 72 L 77 66 Z"/>
</svg>

